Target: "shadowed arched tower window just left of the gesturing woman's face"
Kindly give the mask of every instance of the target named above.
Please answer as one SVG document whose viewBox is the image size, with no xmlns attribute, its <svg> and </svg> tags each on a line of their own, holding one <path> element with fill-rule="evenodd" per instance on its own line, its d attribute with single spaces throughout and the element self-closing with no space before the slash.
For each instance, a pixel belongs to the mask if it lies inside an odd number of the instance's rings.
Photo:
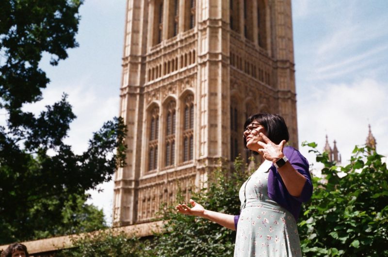
<svg viewBox="0 0 388 257">
<path fill-rule="evenodd" d="M 242 137 L 242 131 L 239 123 L 238 101 L 231 98 L 230 103 L 230 160 L 234 161 L 239 155 L 239 139 Z"/>
</svg>

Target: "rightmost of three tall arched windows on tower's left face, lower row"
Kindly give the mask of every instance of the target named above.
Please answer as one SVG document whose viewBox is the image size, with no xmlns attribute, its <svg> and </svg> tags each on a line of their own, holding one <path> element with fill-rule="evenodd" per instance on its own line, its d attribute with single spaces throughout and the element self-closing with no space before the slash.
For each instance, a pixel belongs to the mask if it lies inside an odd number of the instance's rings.
<svg viewBox="0 0 388 257">
<path fill-rule="evenodd" d="M 186 96 L 183 108 L 183 161 L 194 159 L 194 96 Z"/>
</svg>

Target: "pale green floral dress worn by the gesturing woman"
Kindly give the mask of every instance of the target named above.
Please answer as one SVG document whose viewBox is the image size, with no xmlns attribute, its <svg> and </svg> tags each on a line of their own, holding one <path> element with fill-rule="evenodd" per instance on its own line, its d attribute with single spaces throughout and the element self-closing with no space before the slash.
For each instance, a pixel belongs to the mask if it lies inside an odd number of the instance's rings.
<svg viewBox="0 0 388 257">
<path fill-rule="evenodd" d="M 271 165 L 271 161 L 264 161 L 240 189 L 235 257 L 302 256 L 295 218 L 268 197 Z"/>
</svg>

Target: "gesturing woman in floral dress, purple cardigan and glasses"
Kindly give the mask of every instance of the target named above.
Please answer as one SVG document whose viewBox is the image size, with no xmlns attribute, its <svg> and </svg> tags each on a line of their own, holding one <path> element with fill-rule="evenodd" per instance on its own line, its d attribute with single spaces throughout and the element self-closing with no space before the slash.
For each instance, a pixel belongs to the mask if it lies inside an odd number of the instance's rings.
<svg viewBox="0 0 388 257">
<path fill-rule="evenodd" d="M 284 119 L 259 113 L 244 124 L 246 147 L 263 158 L 260 167 L 242 184 L 240 215 L 204 209 L 190 199 L 176 206 L 178 212 L 207 218 L 236 230 L 235 257 L 300 257 L 296 221 L 302 202 L 312 194 L 308 162 L 291 146 Z"/>
</svg>

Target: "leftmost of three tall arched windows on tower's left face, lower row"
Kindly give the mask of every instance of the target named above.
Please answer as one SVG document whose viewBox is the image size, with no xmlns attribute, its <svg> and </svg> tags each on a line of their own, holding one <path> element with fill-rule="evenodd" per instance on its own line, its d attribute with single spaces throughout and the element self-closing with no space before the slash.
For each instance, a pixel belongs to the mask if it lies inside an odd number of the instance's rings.
<svg viewBox="0 0 388 257">
<path fill-rule="evenodd" d="M 158 131 L 159 108 L 154 107 L 150 112 L 148 135 L 148 171 L 158 168 Z"/>
</svg>

